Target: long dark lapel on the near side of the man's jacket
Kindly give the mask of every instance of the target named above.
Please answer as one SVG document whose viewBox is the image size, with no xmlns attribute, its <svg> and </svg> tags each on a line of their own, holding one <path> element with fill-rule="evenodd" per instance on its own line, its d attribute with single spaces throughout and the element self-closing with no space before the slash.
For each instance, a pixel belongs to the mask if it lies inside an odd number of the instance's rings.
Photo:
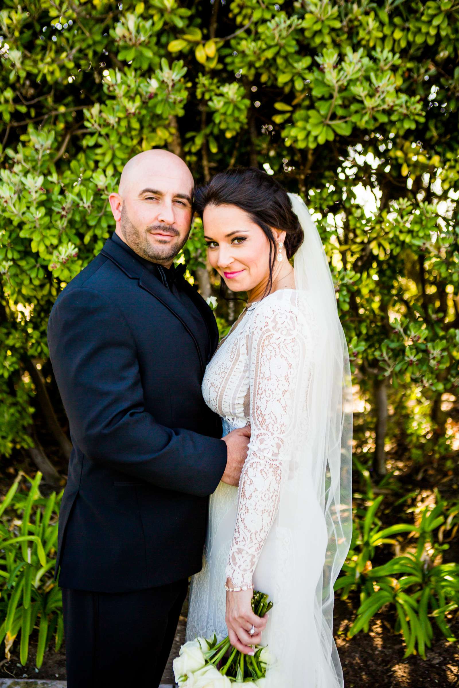
<svg viewBox="0 0 459 688">
<path fill-rule="evenodd" d="M 134 256 L 130 255 L 122 246 L 118 246 L 115 241 L 107 239 L 105 245 L 101 251 L 105 257 L 113 261 L 118 268 L 125 272 L 128 277 L 132 279 L 138 279 L 140 288 L 145 289 L 149 294 L 158 299 L 171 312 L 176 318 L 180 320 L 185 330 L 189 333 L 193 342 L 195 343 L 196 351 L 198 352 L 198 357 L 201 364 L 202 372 L 204 372 L 205 363 L 202 360 L 202 355 L 200 352 L 200 347 L 198 345 L 198 340 L 193 332 L 193 327 L 195 325 L 193 319 L 189 315 L 184 305 L 180 303 L 175 296 L 164 287 L 164 284 L 160 282 L 154 275 L 144 268 L 140 261 L 138 261 Z M 186 281 L 186 280 L 184 280 Z M 187 283 L 188 284 L 188 283 Z M 191 289 L 193 289 L 191 287 Z M 203 301 L 203 299 L 201 299 Z M 198 304 L 197 304 L 198 305 Z M 204 301 L 206 308 L 209 308 Z M 209 310 L 211 310 L 209 308 Z M 212 311 L 211 311 L 212 312 Z M 214 319 L 215 320 L 215 319 Z M 207 324 L 207 321 L 206 321 Z M 216 325 L 215 325 L 216 326 Z"/>
</svg>

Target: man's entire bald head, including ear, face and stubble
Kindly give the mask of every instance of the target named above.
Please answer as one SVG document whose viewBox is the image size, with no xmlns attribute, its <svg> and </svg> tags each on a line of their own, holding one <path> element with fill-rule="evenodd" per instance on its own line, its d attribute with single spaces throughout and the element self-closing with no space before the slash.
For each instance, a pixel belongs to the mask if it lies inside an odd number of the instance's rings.
<svg viewBox="0 0 459 688">
<path fill-rule="evenodd" d="M 151 149 L 125 164 L 109 195 L 116 233 L 153 263 L 169 267 L 191 228 L 193 176 L 178 155 Z"/>
</svg>

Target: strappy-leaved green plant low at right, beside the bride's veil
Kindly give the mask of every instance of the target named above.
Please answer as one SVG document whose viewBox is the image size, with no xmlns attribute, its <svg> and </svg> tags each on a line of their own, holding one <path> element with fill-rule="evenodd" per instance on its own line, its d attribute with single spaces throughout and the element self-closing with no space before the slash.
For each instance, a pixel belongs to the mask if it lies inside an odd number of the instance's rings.
<svg viewBox="0 0 459 688">
<path fill-rule="evenodd" d="M 418 653 L 425 658 L 434 637 L 432 623 L 448 641 L 457 640 L 447 617 L 459 608 L 459 564 L 442 562 L 442 554 L 449 548 L 442 540 L 445 530 L 455 527 L 458 505 L 448 506 L 438 493 L 436 497 L 437 504 L 426 506 L 418 515 L 417 526 L 394 524 L 381 529 L 376 511 L 382 495 L 366 511 L 357 510 L 350 555 L 334 585 L 343 599 L 353 590 L 359 592 L 360 606 L 349 638 L 361 630 L 368 632 L 375 614 L 387 608 L 394 612 L 395 632 L 405 641 L 405 657 Z M 373 567 L 378 548 L 387 544 L 400 548 L 397 536 L 401 533 L 407 533 L 405 553 Z"/>
</svg>

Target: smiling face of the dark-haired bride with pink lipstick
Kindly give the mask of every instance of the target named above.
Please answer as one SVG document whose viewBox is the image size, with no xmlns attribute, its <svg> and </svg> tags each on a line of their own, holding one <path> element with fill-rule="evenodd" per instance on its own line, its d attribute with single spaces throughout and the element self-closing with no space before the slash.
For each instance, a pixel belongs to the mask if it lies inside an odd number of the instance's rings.
<svg viewBox="0 0 459 688">
<path fill-rule="evenodd" d="M 233 205 L 204 208 L 209 262 L 233 292 L 251 292 L 269 277 L 269 241 L 245 211 Z M 273 230 L 283 241 L 285 232 Z"/>
</svg>

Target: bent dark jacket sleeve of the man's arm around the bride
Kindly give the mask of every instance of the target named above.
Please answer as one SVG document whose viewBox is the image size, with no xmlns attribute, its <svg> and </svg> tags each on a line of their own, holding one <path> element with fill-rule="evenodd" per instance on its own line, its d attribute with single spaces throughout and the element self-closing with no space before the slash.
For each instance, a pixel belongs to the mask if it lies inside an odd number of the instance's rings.
<svg viewBox="0 0 459 688">
<path fill-rule="evenodd" d="M 215 491 L 225 442 L 164 427 L 145 411 L 136 342 L 110 299 L 87 288 L 63 292 L 48 345 L 72 438 L 88 458 L 161 488 Z"/>
</svg>

